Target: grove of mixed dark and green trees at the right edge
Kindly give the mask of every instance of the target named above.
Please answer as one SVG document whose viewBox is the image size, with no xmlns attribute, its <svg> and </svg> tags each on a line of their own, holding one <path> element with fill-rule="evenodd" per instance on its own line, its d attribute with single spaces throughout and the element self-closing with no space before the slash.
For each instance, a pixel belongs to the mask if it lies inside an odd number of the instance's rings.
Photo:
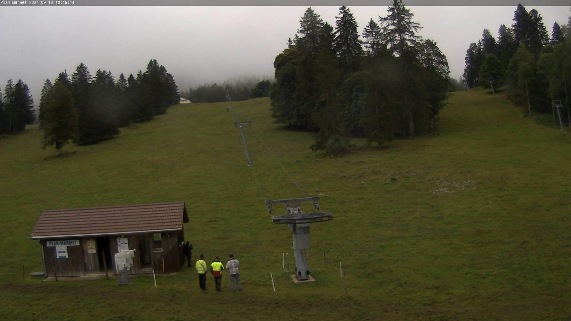
<svg viewBox="0 0 571 321">
<path fill-rule="evenodd" d="M 554 22 L 551 38 L 537 10 L 521 4 L 511 27 L 501 25 L 497 40 L 488 29 L 466 53 L 465 82 L 486 89 L 505 86 L 508 97 L 527 114 L 553 113 L 559 101 L 569 107 L 571 98 L 571 17 L 568 25 Z M 571 125 L 571 113 L 562 121 Z"/>
</svg>

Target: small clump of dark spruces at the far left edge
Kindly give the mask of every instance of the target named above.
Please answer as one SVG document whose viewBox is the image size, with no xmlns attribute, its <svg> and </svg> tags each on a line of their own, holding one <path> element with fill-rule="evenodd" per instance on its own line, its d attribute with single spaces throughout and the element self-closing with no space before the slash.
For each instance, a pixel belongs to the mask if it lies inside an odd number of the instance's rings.
<svg viewBox="0 0 571 321">
<path fill-rule="evenodd" d="M 0 134 L 16 134 L 35 121 L 34 99 L 25 82 L 8 79 L 0 91 Z"/>
</svg>

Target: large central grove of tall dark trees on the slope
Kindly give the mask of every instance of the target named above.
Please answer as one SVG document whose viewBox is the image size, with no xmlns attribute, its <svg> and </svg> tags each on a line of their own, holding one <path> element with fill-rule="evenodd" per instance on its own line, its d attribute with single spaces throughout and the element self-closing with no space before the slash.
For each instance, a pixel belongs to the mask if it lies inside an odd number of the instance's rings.
<svg viewBox="0 0 571 321">
<path fill-rule="evenodd" d="M 380 148 L 395 135 L 437 126 L 451 87 L 446 57 L 417 35 L 422 27 L 401 0 L 371 18 L 362 39 L 353 14 L 339 8 L 336 26 L 309 7 L 288 48 L 274 61 L 270 86 L 276 123 L 316 130 L 313 149 L 347 150 L 349 137 Z"/>
</svg>

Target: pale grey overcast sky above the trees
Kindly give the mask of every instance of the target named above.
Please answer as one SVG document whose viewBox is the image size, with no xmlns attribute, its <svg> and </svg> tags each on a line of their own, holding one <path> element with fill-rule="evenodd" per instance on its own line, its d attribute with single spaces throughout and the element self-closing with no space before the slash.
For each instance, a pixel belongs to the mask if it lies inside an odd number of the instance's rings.
<svg viewBox="0 0 571 321">
<path fill-rule="evenodd" d="M 273 62 L 293 38 L 307 7 L 26 7 L 0 8 L 0 85 L 7 79 L 26 82 L 39 103 L 43 82 L 80 62 L 91 74 L 97 69 L 136 74 L 150 59 L 164 65 L 188 90 L 207 82 L 240 76 L 274 74 Z M 339 7 L 313 7 L 335 27 Z M 373 18 L 387 15 L 387 7 L 349 6 L 359 32 Z M 436 41 L 447 56 L 451 77 L 464 69 L 471 42 L 489 29 L 497 38 L 501 24 L 510 26 L 515 6 L 409 7 L 413 20 L 424 27 L 420 35 Z M 565 25 L 568 7 L 537 9 L 551 35 L 553 22 Z"/>
</svg>

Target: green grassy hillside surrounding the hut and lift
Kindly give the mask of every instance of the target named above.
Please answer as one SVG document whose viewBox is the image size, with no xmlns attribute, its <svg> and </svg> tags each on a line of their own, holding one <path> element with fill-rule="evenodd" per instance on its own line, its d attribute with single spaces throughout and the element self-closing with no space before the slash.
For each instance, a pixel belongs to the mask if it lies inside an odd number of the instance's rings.
<svg viewBox="0 0 571 321">
<path fill-rule="evenodd" d="M 352 154 L 324 158 L 309 149 L 312 133 L 272 123 L 262 98 L 234 103 L 252 121 L 247 167 L 227 105 L 176 105 L 115 139 L 67 146 L 61 158 L 39 149 L 34 126 L 1 139 L 0 319 L 571 318 L 571 138 L 558 129 L 476 90 L 452 95 L 437 135 L 384 150 L 353 140 Z M 303 196 L 292 180 L 335 213 L 311 228 L 313 283 L 286 276 L 291 233 L 263 203 Z M 230 292 L 226 275 L 226 291 L 212 291 L 209 277 L 202 293 L 186 268 L 158 276 L 157 288 L 147 276 L 124 287 L 22 280 L 22 266 L 42 270 L 29 239 L 42 210 L 176 200 L 186 202 L 194 256 L 234 253 L 244 291 Z"/>
</svg>

